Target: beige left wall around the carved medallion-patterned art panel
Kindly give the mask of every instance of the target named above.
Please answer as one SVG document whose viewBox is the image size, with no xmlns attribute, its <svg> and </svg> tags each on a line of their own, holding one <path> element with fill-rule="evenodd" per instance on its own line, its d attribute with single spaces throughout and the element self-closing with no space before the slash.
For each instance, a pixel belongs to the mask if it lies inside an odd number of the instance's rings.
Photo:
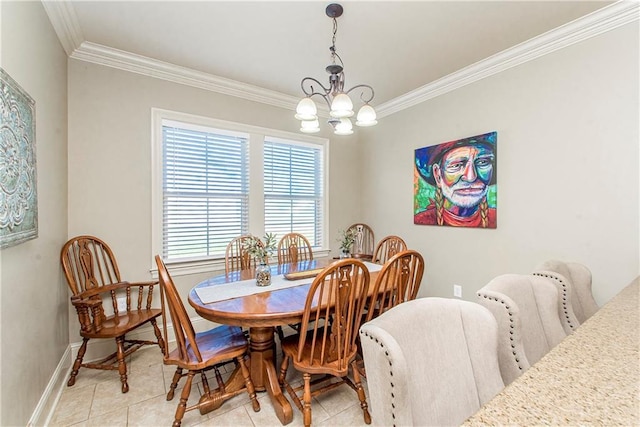
<svg viewBox="0 0 640 427">
<path fill-rule="evenodd" d="M 2 68 L 36 103 L 39 236 L 0 252 L 0 425 L 26 425 L 69 345 L 67 59 L 40 2 L 0 2 Z M 46 408 L 44 408 L 46 411 Z"/>
</svg>

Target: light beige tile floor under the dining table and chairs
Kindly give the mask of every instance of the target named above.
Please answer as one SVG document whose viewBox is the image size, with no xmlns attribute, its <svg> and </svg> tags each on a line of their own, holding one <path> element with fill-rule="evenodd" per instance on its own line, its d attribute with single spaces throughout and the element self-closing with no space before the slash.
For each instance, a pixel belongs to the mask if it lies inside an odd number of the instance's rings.
<svg viewBox="0 0 640 427">
<path fill-rule="evenodd" d="M 280 358 L 278 358 L 280 360 Z M 229 371 L 233 365 L 227 365 Z M 162 363 L 157 347 L 140 349 L 128 362 L 129 392 L 120 392 L 117 371 L 81 369 L 73 387 L 65 387 L 50 426 L 171 426 L 185 379 L 181 379 L 173 400 L 167 402 L 166 393 L 175 372 L 174 366 Z M 226 373 L 228 375 L 229 372 Z M 290 375 L 298 375 L 291 367 Z M 224 376 L 224 375 L 223 375 Z M 207 376 L 215 387 L 213 371 Z M 294 383 L 297 378 L 290 381 Z M 301 377 L 300 380 L 301 382 Z M 200 398 L 202 384 L 194 378 L 187 406 Z M 366 380 L 363 386 L 367 391 Z M 285 396 L 290 400 L 289 396 Z M 258 393 L 260 412 L 253 412 L 246 393 L 226 401 L 215 411 L 200 415 L 196 409 L 185 413 L 182 426 L 281 426 L 267 393 Z M 371 403 L 368 398 L 367 403 Z M 293 421 L 289 426 L 301 426 L 302 413 L 293 406 Z M 370 411 L 371 412 L 371 411 Z M 318 426 L 364 426 L 362 409 L 356 393 L 347 385 L 314 398 L 312 424 Z"/>
</svg>

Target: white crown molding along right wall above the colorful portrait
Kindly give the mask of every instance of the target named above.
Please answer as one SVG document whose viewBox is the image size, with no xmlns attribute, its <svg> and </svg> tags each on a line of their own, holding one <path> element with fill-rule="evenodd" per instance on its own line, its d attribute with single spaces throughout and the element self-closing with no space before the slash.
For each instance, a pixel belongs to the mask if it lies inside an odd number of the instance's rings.
<svg viewBox="0 0 640 427">
<path fill-rule="evenodd" d="M 379 118 L 638 20 L 640 3 L 618 1 L 376 107 Z"/>
</svg>

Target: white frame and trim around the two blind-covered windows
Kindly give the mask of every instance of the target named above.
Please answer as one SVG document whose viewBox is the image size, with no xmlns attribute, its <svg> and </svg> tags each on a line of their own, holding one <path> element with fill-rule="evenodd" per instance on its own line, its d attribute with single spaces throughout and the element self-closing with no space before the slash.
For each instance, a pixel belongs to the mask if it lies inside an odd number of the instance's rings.
<svg viewBox="0 0 640 427">
<path fill-rule="evenodd" d="M 244 133 L 249 135 L 249 232 L 258 236 L 264 235 L 264 142 L 275 139 L 287 143 L 312 144 L 322 148 L 324 171 L 322 176 L 322 241 L 320 249 L 314 256 L 328 256 L 329 228 L 329 140 L 309 135 L 295 134 L 277 129 L 246 125 L 237 122 L 214 119 L 189 113 L 151 109 L 151 273 L 157 277 L 157 266 L 154 256 L 162 254 L 163 226 L 163 134 L 164 121 L 187 123 L 194 127 L 212 128 L 222 132 Z M 224 256 L 195 260 L 167 260 L 171 273 L 175 276 L 205 273 L 224 269 Z"/>
</svg>

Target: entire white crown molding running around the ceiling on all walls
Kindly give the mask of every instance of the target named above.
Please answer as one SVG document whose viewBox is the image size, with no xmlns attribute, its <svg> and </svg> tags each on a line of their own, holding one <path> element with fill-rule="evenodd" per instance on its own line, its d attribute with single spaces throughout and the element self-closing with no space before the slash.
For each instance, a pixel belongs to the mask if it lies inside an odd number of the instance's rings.
<svg viewBox="0 0 640 427">
<path fill-rule="evenodd" d="M 75 9 L 70 1 L 42 0 L 42 4 L 49 15 L 49 19 L 64 50 L 70 58 L 289 110 L 295 110 L 299 101 L 298 97 L 273 90 L 86 42 L 84 41 Z M 637 21 L 639 11 L 640 3 L 638 1 L 626 0 L 613 3 L 380 104 L 376 107 L 378 117 L 382 118 L 397 113 L 574 43 Z M 321 116 L 328 116 L 328 108 L 319 105 L 318 109 Z"/>
</svg>

